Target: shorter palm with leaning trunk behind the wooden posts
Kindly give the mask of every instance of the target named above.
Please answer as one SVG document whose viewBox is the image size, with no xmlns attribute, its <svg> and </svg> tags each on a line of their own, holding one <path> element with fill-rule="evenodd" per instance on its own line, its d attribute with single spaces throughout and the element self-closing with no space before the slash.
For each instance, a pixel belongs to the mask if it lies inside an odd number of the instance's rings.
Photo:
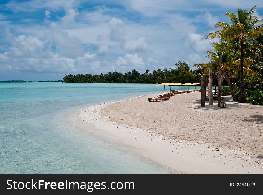
<svg viewBox="0 0 263 195">
<path fill-rule="evenodd" d="M 218 72 L 218 64 L 219 64 L 219 55 L 222 55 L 222 72 L 224 72 L 225 78 L 227 80 L 231 95 L 234 100 L 236 100 L 236 93 L 233 90 L 233 86 L 231 84 L 230 79 L 236 78 L 235 72 L 240 71 L 240 51 L 236 46 L 236 43 L 230 42 L 219 42 L 219 43 L 211 43 L 211 47 L 214 49 L 214 52 L 207 51 L 208 55 L 206 56 L 210 61 L 212 61 L 212 72 Z M 237 51 L 235 51 L 237 50 Z M 249 49 L 247 49 L 250 51 Z M 244 59 L 244 72 L 254 76 L 255 72 L 250 69 L 250 65 L 254 62 L 254 60 L 250 58 Z M 205 68 L 204 73 L 208 74 L 210 63 L 198 63 L 194 64 L 194 67 Z"/>
</svg>

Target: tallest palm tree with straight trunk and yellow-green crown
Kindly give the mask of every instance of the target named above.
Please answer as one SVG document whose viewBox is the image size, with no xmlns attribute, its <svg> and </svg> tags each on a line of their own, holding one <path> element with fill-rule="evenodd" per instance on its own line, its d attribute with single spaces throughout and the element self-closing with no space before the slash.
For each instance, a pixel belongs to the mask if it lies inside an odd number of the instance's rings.
<svg viewBox="0 0 263 195">
<path fill-rule="evenodd" d="M 240 76 L 239 76 L 239 97 L 240 103 L 246 102 L 246 96 L 244 92 L 244 42 L 246 39 L 253 38 L 263 32 L 263 25 L 257 26 L 256 24 L 262 22 L 258 20 L 258 16 L 253 15 L 255 13 L 256 5 L 250 10 L 237 10 L 238 16 L 234 13 L 227 12 L 225 16 L 229 16 L 232 24 L 226 22 L 217 22 L 216 28 L 222 28 L 215 33 L 207 34 L 207 38 L 221 38 L 222 41 L 232 41 L 237 39 L 240 44 Z"/>
</svg>

